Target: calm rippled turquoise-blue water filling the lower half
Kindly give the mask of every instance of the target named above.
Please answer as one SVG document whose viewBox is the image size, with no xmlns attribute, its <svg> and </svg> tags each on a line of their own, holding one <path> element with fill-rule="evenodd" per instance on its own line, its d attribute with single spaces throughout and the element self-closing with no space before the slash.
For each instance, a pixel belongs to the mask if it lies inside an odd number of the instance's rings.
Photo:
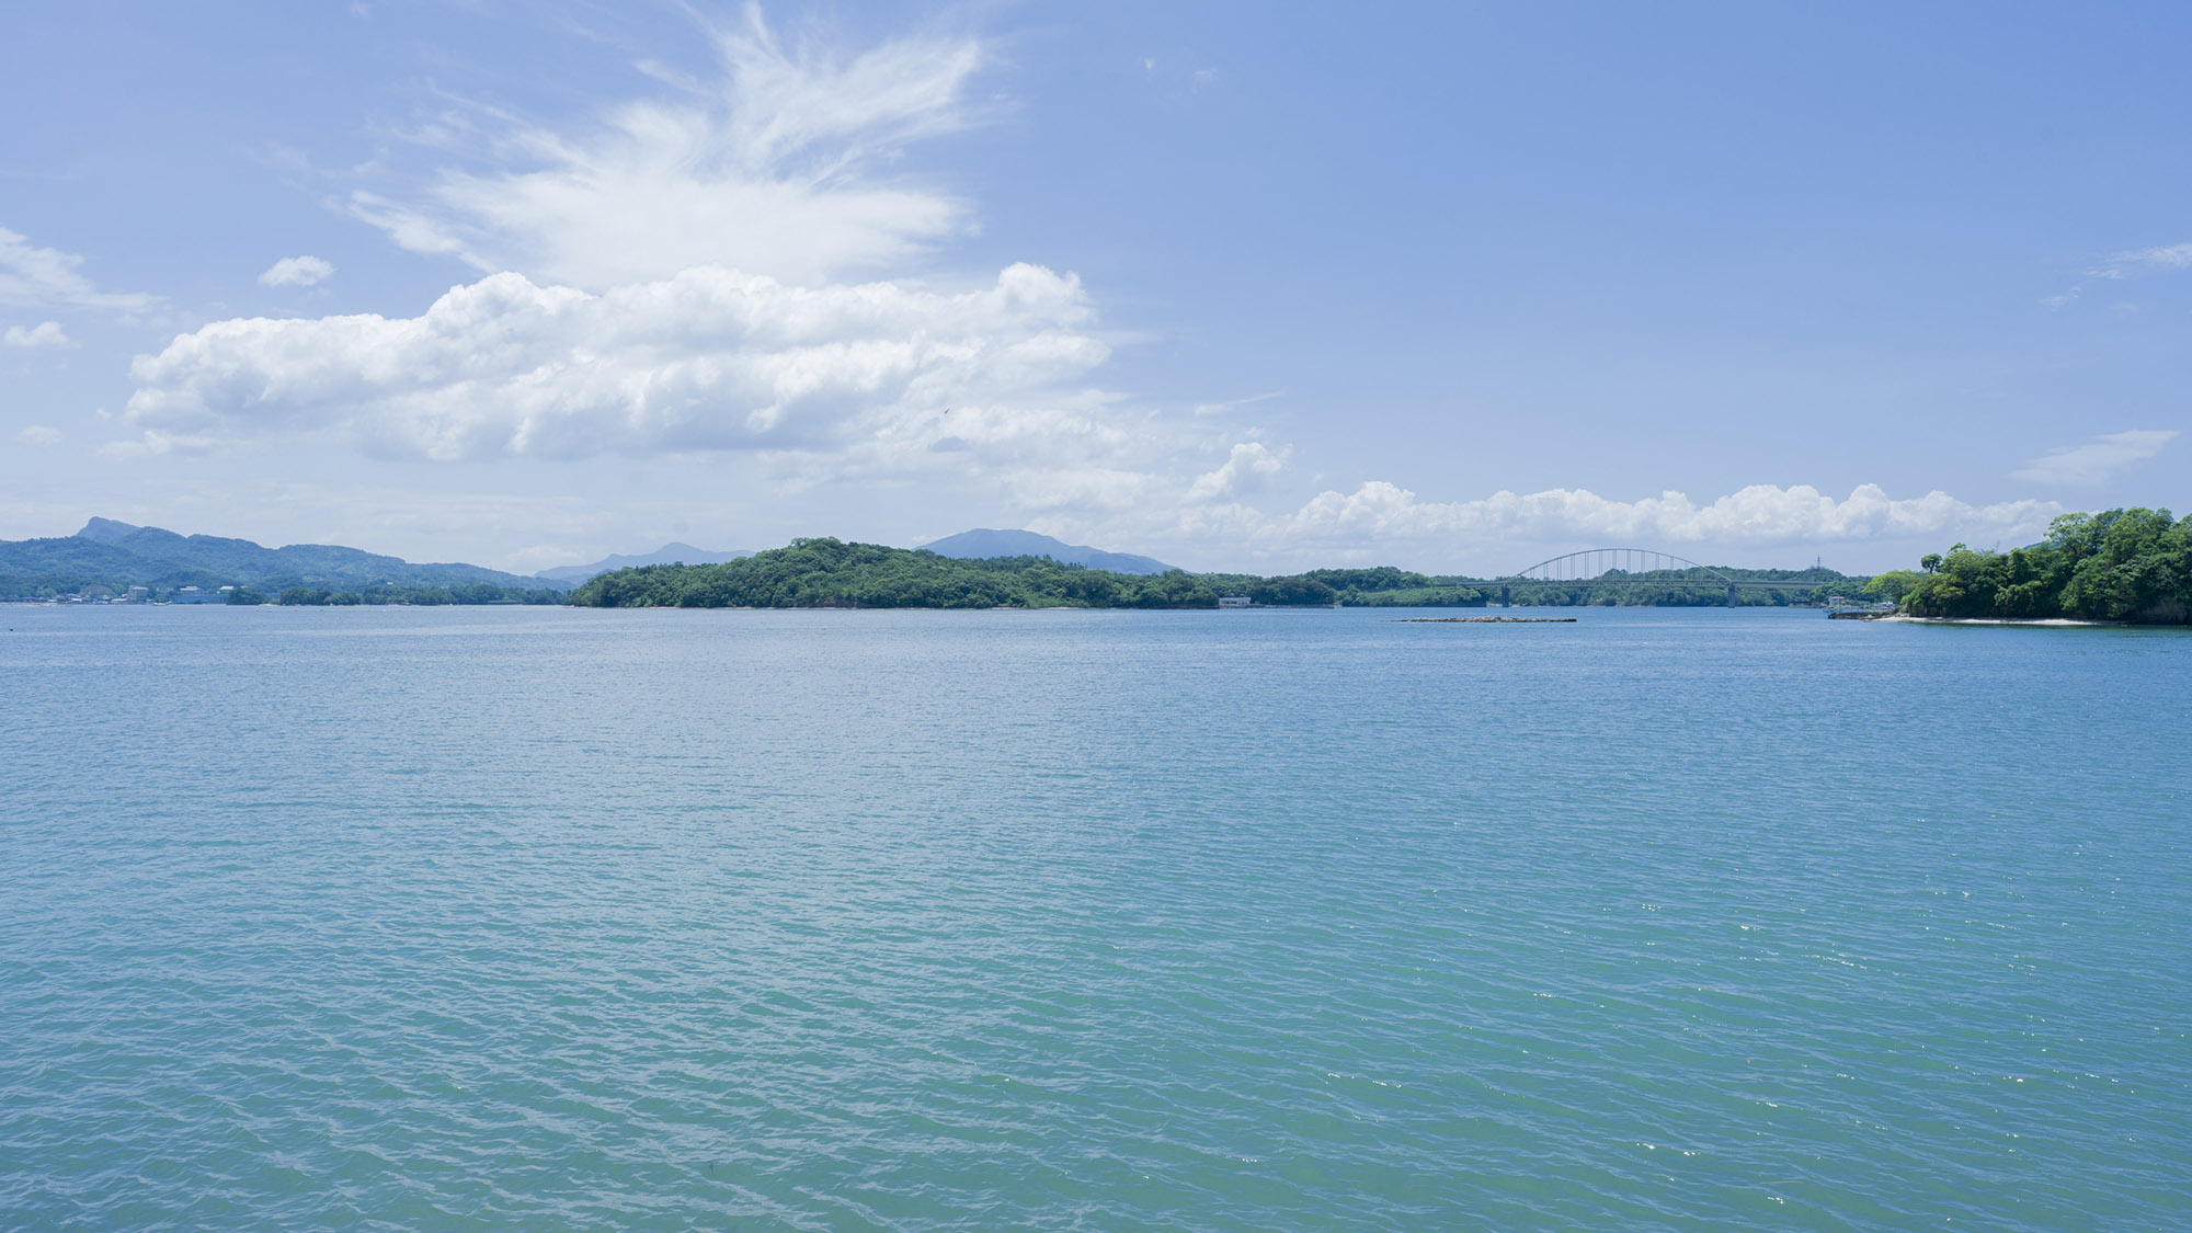
<svg viewBox="0 0 2192 1233">
<path fill-rule="evenodd" d="M 0 1226 L 2161 1229 L 2192 636 L 0 610 Z"/>
</svg>

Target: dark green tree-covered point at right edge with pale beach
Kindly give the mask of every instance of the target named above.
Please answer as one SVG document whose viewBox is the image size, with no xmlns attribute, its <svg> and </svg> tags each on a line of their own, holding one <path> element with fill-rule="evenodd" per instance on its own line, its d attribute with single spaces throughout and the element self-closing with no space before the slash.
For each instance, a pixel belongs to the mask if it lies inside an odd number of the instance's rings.
<svg viewBox="0 0 2192 1233">
<path fill-rule="evenodd" d="M 2039 544 L 2008 553 L 1964 544 L 1870 590 L 1911 616 L 2001 621 L 2192 621 L 2192 518 L 2168 509 L 2065 513 Z"/>
</svg>

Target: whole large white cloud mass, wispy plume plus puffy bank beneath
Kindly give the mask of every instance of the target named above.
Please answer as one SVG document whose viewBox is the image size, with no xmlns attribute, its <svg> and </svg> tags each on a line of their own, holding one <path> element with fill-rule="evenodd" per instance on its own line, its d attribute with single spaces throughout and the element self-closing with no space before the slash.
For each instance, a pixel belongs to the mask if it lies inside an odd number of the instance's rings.
<svg viewBox="0 0 2192 1233">
<path fill-rule="evenodd" d="M 956 200 L 877 173 L 901 145 L 969 123 L 980 44 L 787 46 L 747 11 L 715 50 L 719 81 L 642 66 L 677 94 L 581 132 L 482 114 L 419 136 L 484 169 L 351 206 L 406 248 L 491 274 L 419 316 L 180 336 L 136 360 L 138 437 L 110 448 L 305 432 L 434 461 L 743 450 L 791 494 L 956 474 L 1028 509 L 1179 496 L 1186 480 L 1157 472 L 1208 441 L 1083 384 L 1109 344 L 1072 274 L 842 276 L 960 224 Z"/>
</svg>

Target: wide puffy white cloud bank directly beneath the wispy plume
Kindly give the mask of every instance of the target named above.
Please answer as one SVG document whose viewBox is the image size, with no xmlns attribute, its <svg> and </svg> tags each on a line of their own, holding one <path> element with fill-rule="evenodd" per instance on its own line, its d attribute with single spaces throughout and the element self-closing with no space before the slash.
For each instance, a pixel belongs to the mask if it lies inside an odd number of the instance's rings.
<svg viewBox="0 0 2192 1233">
<path fill-rule="evenodd" d="M 132 366 L 127 421 L 191 441 L 324 430 L 438 461 L 927 459 L 945 437 L 1015 456 L 1109 432 L 1089 395 L 1063 388 L 1109 355 L 1092 316 L 1078 279 L 1037 265 L 956 294 L 695 268 L 596 296 L 493 274 L 416 318 L 239 318 L 184 333 Z"/>
</svg>

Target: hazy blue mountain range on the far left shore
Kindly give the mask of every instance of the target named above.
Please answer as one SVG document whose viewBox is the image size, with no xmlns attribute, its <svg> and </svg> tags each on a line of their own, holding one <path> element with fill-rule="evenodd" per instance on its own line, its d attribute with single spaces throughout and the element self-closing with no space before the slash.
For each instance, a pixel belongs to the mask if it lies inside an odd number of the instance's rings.
<svg viewBox="0 0 2192 1233">
<path fill-rule="evenodd" d="M 92 518 L 83 531 L 53 540 L 0 540 L 0 597 L 68 595 L 90 586 L 149 586 L 173 590 L 197 586 L 250 586 L 283 590 L 289 586 L 373 588 L 373 586 L 469 586 L 493 584 L 513 588 L 570 590 L 537 577 L 465 564 L 412 564 L 362 548 L 335 544 L 289 544 L 265 548 L 250 540 L 219 535 L 178 535 L 158 527 L 132 527 L 112 518 Z"/>
</svg>

